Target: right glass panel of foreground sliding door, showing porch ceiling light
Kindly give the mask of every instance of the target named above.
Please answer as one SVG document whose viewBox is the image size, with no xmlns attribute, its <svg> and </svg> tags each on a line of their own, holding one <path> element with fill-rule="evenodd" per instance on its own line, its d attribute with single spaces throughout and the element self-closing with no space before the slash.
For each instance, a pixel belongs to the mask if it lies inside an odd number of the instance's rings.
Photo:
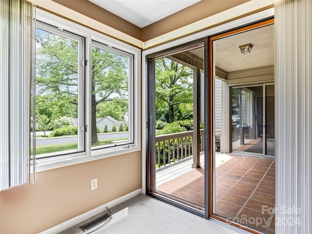
<svg viewBox="0 0 312 234">
<path fill-rule="evenodd" d="M 273 25 L 269 25 L 231 36 L 216 36 L 211 44 L 214 59 L 211 90 L 215 92 L 210 111 L 215 144 L 209 161 L 212 164 L 209 195 L 213 203 L 210 213 L 213 218 L 234 226 L 239 224 L 251 233 L 274 233 L 274 214 L 266 208 L 274 208 L 275 160 L 264 157 L 269 153 L 269 139 L 274 138 L 273 85 L 266 83 L 273 81 L 273 77 L 269 81 L 261 75 L 264 62 L 273 69 L 274 50 L 260 58 L 254 51 L 241 54 L 237 48 L 242 41 L 257 41 L 273 48 L 273 36 L 262 37 L 267 33 L 273 35 L 273 31 Z M 257 48 L 264 52 L 267 47 L 257 45 Z M 252 84 L 254 81 L 257 83 Z"/>
</svg>

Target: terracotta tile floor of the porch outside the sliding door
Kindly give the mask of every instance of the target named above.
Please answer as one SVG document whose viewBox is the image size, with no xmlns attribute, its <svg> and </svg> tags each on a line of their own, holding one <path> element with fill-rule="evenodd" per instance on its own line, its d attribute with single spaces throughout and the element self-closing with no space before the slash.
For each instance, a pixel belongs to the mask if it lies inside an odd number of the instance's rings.
<svg viewBox="0 0 312 234">
<path fill-rule="evenodd" d="M 274 233 L 275 160 L 227 154 L 215 168 L 215 214 L 264 233 Z M 204 206 L 204 169 L 196 168 L 156 188 Z"/>
</svg>

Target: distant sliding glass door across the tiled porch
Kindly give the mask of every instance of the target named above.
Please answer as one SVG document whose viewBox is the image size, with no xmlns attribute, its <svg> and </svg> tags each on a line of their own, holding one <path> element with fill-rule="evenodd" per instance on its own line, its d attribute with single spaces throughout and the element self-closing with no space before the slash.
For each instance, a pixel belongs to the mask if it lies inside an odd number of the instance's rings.
<svg viewBox="0 0 312 234">
<path fill-rule="evenodd" d="M 232 152 L 274 156 L 274 84 L 232 87 Z"/>
</svg>

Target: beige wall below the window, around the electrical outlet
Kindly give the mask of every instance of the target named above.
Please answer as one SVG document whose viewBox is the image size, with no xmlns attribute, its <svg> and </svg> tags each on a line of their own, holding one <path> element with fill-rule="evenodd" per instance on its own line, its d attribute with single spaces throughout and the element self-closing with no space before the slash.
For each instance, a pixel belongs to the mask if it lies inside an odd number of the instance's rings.
<svg viewBox="0 0 312 234">
<path fill-rule="evenodd" d="M 134 152 L 40 172 L 36 184 L 0 193 L 0 234 L 36 234 L 140 189 L 141 164 Z"/>
</svg>

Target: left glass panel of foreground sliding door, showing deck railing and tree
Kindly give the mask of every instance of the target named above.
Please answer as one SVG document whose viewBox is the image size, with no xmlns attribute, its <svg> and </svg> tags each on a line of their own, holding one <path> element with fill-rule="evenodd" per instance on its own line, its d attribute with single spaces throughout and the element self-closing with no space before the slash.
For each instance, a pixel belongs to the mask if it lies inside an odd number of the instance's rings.
<svg viewBox="0 0 312 234">
<path fill-rule="evenodd" d="M 149 192 L 203 212 L 203 43 L 150 61 L 150 79 L 153 77 L 155 82 L 150 91 L 155 92 L 155 98 L 150 100 L 149 107 L 155 127 L 150 131 L 155 131 L 155 135 L 149 145 L 154 164 Z"/>
</svg>

